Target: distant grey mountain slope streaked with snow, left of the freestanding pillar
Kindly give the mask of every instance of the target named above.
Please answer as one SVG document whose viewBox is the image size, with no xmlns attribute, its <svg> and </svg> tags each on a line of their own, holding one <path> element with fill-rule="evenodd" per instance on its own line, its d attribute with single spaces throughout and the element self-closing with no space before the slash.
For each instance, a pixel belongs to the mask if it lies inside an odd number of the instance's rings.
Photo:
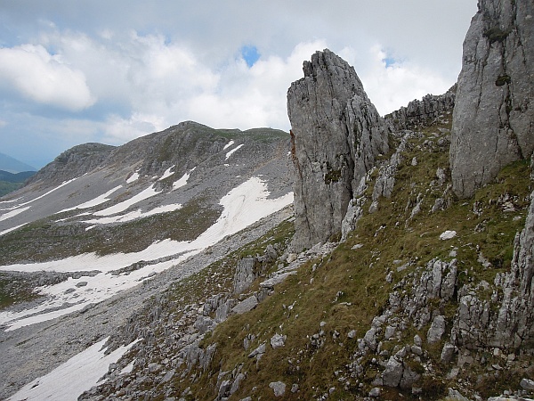
<svg viewBox="0 0 534 401">
<path fill-rule="evenodd" d="M 167 271 L 180 278 L 197 271 L 206 263 L 199 262 L 206 249 L 290 204 L 288 143 L 289 135 L 282 131 L 215 130 L 185 122 L 118 148 L 77 146 L 4 198 L 3 301 L 20 301 L 17 289 L 28 294 L 40 288 L 29 303 L 0 311 L 6 362 L 0 372 L 2 394 L 12 391 L 14 383 L 48 372 L 76 354 L 80 344 L 91 345 L 95 337 L 102 339 L 117 328 L 97 325 L 95 333 L 91 323 L 86 331 L 71 332 L 77 342 L 69 344 L 67 338 L 50 337 L 57 324 L 51 322 L 58 317 L 63 316 L 61 330 L 90 310 L 100 311 L 94 319 L 110 315 L 104 320 L 115 321 L 113 308 L 100 304 L 118 302 L 132 291 L 142 302 L 150 292 L 136 290 L 139 286 L 161 280 L 159 275 Z M 267 230 L 270 221 L 255 230 Z M 194 264 L 182 270 L 192 256 Z M 130 313 L 126 308 L 119 321 Z M 39 331 L 32 328 L 36 325 Z M 20 338 L 48 357 L 28 364 L 12 342 Z M 44 347 L 51 341 L 62 349 L 59 356 Z"/>
</svg>

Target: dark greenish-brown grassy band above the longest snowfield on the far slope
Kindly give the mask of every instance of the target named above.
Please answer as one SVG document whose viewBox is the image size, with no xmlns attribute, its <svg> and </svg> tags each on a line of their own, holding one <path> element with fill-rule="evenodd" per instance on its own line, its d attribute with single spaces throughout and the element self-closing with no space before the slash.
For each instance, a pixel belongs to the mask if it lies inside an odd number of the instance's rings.
<svg viewBox="0 0 534 401">
<path fill-rule="evenodd" d="M 219 215 L 219 210 L 206 208 L 205 201 L 197 199 L 174 212 L 97 226 L 90 231 L 85 231 L 86 225 L 55 223 L 57 216 L 48 217 L 0 237 L 0 265 L 20 260 L 44 262 L 85 252 L 135 252 L 167 238 L 190 241 L 213 225 Z"/>
</svg>

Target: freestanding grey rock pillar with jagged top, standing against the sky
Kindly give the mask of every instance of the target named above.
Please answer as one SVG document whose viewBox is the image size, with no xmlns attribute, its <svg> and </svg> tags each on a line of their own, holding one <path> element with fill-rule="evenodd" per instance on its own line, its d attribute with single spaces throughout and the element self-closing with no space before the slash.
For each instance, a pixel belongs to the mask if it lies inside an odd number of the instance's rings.
<svg viewBox="0 0 534 401">
<path fill-rule="evenodd" d="M 328 49 L 287 92 L 295 164 L 296 250 L 341 233 L 362 176 L 388 151 L 389 129 L 355 70 Z"/>
</svg>

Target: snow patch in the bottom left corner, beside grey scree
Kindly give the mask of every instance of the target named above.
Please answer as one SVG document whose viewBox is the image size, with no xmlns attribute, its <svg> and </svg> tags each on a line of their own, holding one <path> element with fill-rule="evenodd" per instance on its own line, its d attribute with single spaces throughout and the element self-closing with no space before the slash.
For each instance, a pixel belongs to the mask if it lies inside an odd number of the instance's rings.
<svg viewBox="0 0 534 401">
<path fill-rule="evenodd" d="M 109 355 L 104 355 L 106 348 L 102 347 L 108 339 L 109 337 L 93 344 L 52 372 L 28 383 L 7 401 L 43 399 L 76 401 L 77 397 L 95 386 L 108 372 L 109 364 L 116 363 L 138 341 L 135 340 L 127 346 L 117 348 Z"/>
</svg>

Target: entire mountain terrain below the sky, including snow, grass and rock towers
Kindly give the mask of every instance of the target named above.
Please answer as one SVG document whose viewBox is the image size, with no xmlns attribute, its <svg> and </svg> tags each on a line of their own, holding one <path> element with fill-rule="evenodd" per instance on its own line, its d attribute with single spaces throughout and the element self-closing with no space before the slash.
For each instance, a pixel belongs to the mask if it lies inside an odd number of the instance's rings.
<svg viewBox="0 0 534 401">
<path fill-rule="evenodd" d="M 458 86 L 384 119 L 326 50 L 288 91 L 291 143 L 185 122 L 54 160 L 2 206 L 7 303 L 43 287 L 0 313 L 0 395 L 531 400 L 530 109 L 507 107 L 531 11 L 481 0 Z M 510 75 L 478 85 L 473 61 Z M 462 133 L 466 103 L 490 130 Z M 469 159 L 495 132 L 514 158 Z"/>
</svg>

